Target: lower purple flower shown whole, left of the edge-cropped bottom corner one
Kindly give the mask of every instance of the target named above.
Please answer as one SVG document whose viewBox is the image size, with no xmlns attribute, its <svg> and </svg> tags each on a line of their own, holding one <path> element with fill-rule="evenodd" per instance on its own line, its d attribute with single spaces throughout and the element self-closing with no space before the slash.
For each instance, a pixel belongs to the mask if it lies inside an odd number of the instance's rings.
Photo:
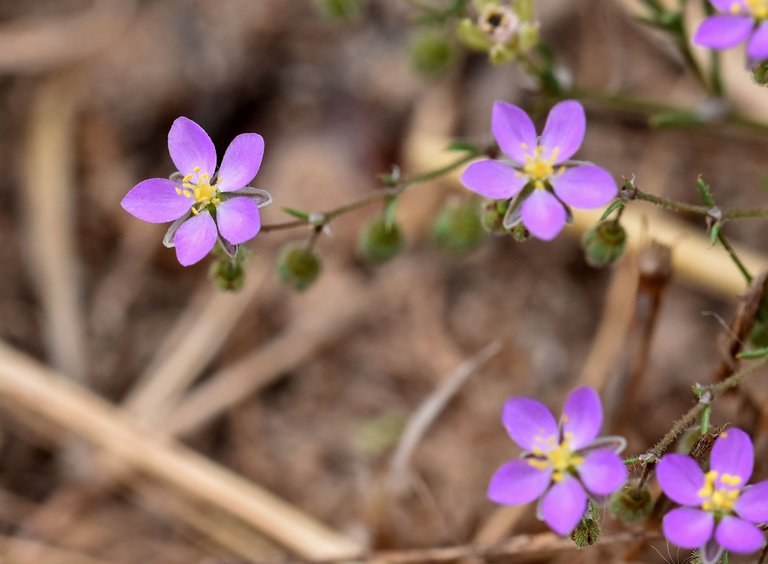
<svg viewBox="0 0 768 564">
<path fill-rule="evenodd" d="M 578 525 L 587 509 L 587 492 L 604 498 L 627 479 L 617 454 L 624 448 L 624 440 L 597 439 L 603 408 L 592 388 L 571 392 L 559 425 L 543 404 L 523 397 L 507 400 L 502 422 L 525 452 L 520 460 L 507 462 L 496 471 L 488 497 L 506 505 L 541 497 L 539 516 L 561 535 Z"/>
</svg>

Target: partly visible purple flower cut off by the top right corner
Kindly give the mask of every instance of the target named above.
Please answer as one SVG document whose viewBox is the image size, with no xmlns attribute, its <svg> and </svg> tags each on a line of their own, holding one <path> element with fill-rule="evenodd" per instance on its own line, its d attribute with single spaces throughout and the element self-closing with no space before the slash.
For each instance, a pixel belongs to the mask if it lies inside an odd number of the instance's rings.
<svg viewBox="0 0 768 564">
<path fill-rule="evenodd" d="M 750 61 L 768 59 L 768 1 L 710 0 L 719 14 L 705 19 L 694 43 L 712 49 L 728 49 L 747 41 Z"/>
</svg>

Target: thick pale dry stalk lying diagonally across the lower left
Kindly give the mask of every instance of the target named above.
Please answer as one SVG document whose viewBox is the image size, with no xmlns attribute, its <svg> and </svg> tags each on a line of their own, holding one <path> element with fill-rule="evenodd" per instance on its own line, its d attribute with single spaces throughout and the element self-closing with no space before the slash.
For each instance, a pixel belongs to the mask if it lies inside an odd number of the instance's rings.
<svg viewBox="0 0 768 564">
<path fill-rule="evenodd" d="M 100 398 L 0 345 L 0 397 L 48 419 L 132 469 L 221 509 L 297 554 L 341 558 L 352 541 L 214 462 L 131 424 Z"/>
</svg>

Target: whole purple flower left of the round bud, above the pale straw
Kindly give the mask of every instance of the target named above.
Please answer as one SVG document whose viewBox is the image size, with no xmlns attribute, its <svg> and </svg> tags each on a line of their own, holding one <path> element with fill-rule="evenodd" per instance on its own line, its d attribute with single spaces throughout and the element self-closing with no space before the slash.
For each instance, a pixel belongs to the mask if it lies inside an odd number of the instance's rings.
<svg viewBox="0 0 768 564">
<path fill-rule="evenodd" d="M 511 159 L 484 159 L 464 171 L 464 185 L 486 198 L 508 200 L 504 226 L 522 221 L 539 239 L 553 239 L 569 217 L 567 206 L 599 208 L 618 193 L 613 177 L 592 164 L 570 167 L 569 159 L 584 139 L 586 117 L 576 100 L 556 104 L 541 137 L 522 109 L 506 102 L 493 106 L 491 129 L 499 148 Z"/>
</svg>

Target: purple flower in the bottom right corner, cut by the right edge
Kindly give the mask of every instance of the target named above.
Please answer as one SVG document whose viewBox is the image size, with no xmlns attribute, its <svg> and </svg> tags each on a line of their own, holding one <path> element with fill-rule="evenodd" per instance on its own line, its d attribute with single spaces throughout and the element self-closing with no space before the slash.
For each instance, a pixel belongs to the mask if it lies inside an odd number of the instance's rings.
<svg viewBox="0 0 768 564">
<path fill-rule="evenodd" d="M 768 521 L 768 480 L 745 487 L 754 458 L 749 435 L 736 428 L 720 433 L 707 473 L 690 456 L 665 455 L 656 476 L 667 497 L 684 507 L 664 516 L 664 536 L 683 548 L 701 549 L 707 564 L 717 562 L 723 550 L 759 550 L 765 535 L 754 523 Z"/>
</svg>

